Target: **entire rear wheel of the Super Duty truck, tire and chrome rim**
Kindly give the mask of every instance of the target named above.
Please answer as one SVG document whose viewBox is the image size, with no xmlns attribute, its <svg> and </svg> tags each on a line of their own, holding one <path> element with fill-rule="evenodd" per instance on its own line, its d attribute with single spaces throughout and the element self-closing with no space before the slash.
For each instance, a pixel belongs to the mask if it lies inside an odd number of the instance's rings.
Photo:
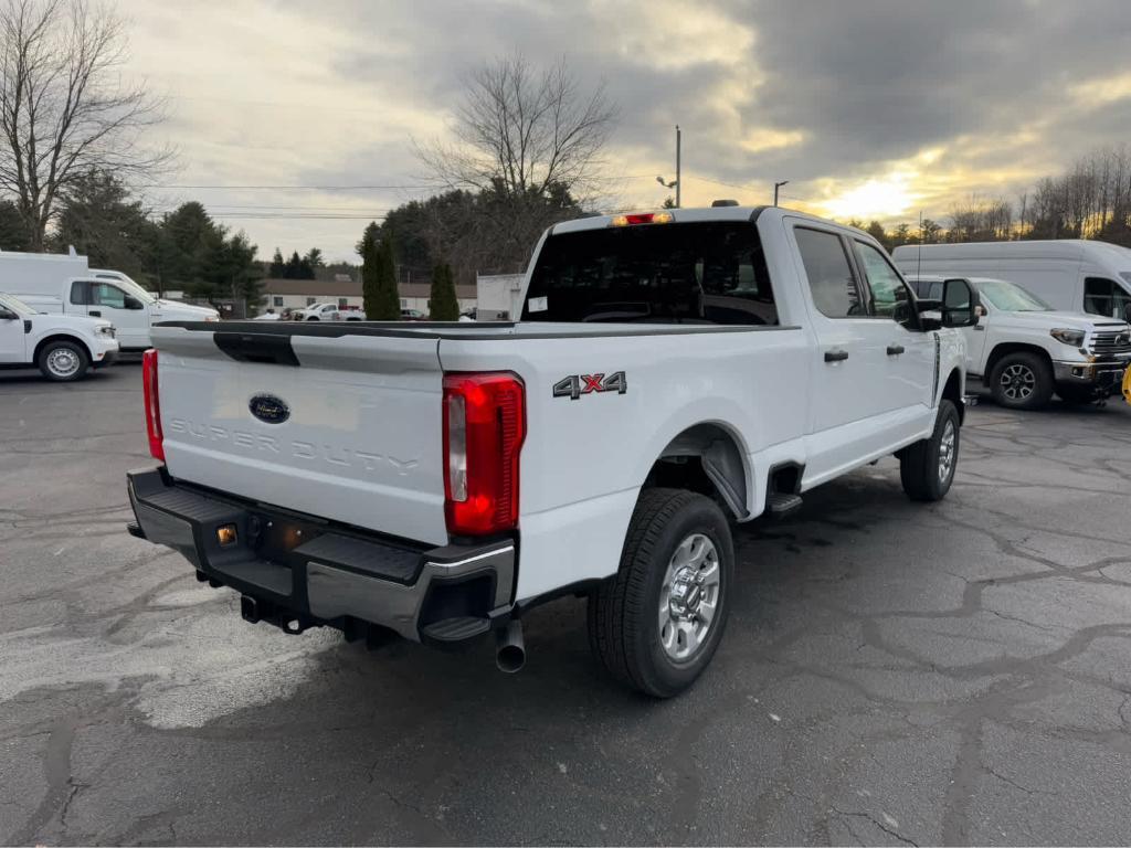
<svg viewBox="0 0 1131 848">
<path fill-rule="evenodd" d="M 690 686 L 710 664 L 729 613 L 731 527 L 709 497 L 640 494 L 616 574 L 589 596 L 589 646 L 616 678 L 654 698 Z"/>
</svg>

